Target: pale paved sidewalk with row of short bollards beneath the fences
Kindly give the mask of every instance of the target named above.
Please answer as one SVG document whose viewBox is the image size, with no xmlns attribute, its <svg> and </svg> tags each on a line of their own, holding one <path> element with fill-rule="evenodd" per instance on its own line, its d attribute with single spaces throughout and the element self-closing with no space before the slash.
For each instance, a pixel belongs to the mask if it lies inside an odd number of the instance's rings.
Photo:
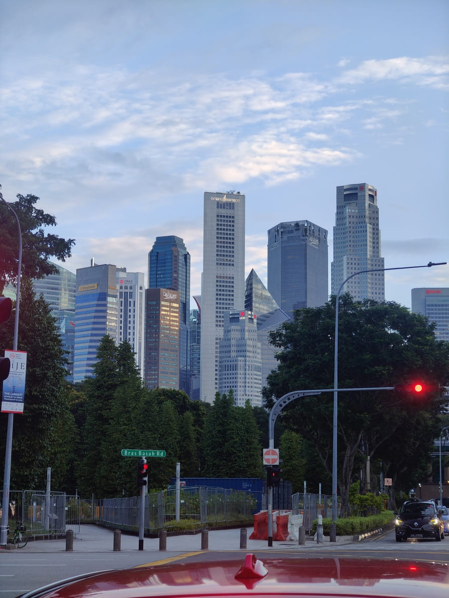
<svg viewBox="0 0 449 598">
<path fill-rule="evenodd" d="M 329 537 L 324 536 L 323 543 L 317 544 L 313 538 L 306 536 L 306 545 L 298 545 L 296 541 L 273 541 L 273 547 L 268 547 L 267 540 L 249 540 L 253 530 L 252 527 L 245 528 L 246 550 L 274 550 L 282 548 L 291 550 L 304 550 L 317 548 L 335 548 L 337 545 L 350 544 L 353 542 L 353 536 L 337 536 L 337 542 L 329 542 Z M 206 541 L 206 537 L 204 538 Z M 202 535 L 185 534 L 180 536 L 167 535 L 166 550 L 160 551 L 159 538 L 144 538 L 143 551 L 158 551 L 161 555 L 170 552 L 186 553 L 201 551 Z M 121 551 L 136 551 L 139 547 L 139 538 L 137 535 L 130 535 L 125 532 L 120 535 Z M 208 550 L 240 550 L 240 528 L 209 530 L 207 533 Z M 0 547 L 1 548 L 1 547 Z M 66 540 L 36 540 L 29 541 L 25 548 L 20 549 L 20 553 L 53 553 L 66 550 Z M 243 549 L 242 549 L 243 550 Z M 94 525 L 82 525 L 80 533 L 74 536 L 73 551 L 79 553 L 107 553 L 114 551 L 114 530 L 105 529 Z"/>
</svg>

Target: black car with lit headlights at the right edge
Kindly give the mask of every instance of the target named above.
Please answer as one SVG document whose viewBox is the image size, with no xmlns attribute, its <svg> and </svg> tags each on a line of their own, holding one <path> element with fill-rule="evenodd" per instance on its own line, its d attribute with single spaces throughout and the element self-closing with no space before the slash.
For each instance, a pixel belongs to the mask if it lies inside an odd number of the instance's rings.
<svg viewBox="0 0 449 598">
<path fill-rule="evenodd" d="M 435 538 L 437 542 L 444 539 L 444 524 L 435 502 L 404 502 L 399 514 L 394 514 L 396 542 L 408 538 Z"/>
</svg>

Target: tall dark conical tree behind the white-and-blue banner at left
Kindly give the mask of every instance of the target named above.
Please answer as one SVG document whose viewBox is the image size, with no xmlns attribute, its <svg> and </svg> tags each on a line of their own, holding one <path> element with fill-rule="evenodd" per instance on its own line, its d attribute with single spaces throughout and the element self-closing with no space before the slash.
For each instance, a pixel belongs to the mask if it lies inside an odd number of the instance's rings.
<svg viewBox="0 0 449 598">
<path fill-rule="evenodd" d="M 58 484 L 69 467 L 61 451 L 74 432 L 66 389 L 66 359 L 56 321 L 32 283 L 20 285 L 18 349 L 27 352 L 25 407 L 14 417 L 11 488 L 43 489 L 47 468 Z M 14 318 L 0 328 L 0 345 L 12 347 Z M 2 414 L 3 415 L 3 414 Z M 7 417 L 0 418 L 1 467 L 4 467 Z"/>
</svg>

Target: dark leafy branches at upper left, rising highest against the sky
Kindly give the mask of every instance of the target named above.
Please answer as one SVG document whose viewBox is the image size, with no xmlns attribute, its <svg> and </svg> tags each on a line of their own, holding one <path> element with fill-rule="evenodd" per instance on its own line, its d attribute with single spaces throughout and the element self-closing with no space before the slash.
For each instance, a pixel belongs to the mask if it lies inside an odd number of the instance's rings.
<svg viewBox="0 0 449 598">
<path fill-rule="evenodd" d="M 17 222 L 13 213 L 1 201 L 0 193 L 0 294 L 5 285 L 17 282 L 17 260 L 19 242 L 17 240 Z M 44 228 L 56 226 L 56 219 L 43 210 L 36 209 L 39 197 L 17 194 L 17 202 L 11 202 L 16 212 L 22 233 L 22 276 L 29 279 L 42 278 L 55 273 L 56 267 L 48 261 L 52 257 L 65 261 L 71 257 L 74 239 L 63 239 L 56 234 L 44 233 Z"/>
</svg>

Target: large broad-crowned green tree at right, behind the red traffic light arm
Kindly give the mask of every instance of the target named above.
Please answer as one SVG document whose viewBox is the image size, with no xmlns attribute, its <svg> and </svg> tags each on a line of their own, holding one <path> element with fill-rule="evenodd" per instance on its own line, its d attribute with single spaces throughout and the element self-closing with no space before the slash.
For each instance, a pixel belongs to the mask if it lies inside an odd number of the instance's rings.
<svg viewBox="0 0 449 598">
<path fill-rule="evenodd" d="M 345 294 L 341 296 L 338 328 L 340 388 L 394 386 L 416 377 L 447 385 L 449 344 L 436 340 L 434 325 L 424 316 L 394 302 L 359 303 Z M 333 388 L 334 329 L 335 297 L 325 306 L 298 310 L 293 320 L 271 332 L 271 342 L 280 351 L 277 370 L 268 376 L 263 391 L 268 407 L 274 396 L 280 398 L 292 390 Z M 414 457 L 435 435 L 442 404 L 438 392 L 419 403 L 398 401 L 391 391 L 338 393 L 338 485 L 343 514 L 356 459 L 368 454 L 373 460 L 391 456 L 392 447 L 401 451 L 399 447 L 407 444 L 407 450 L 413 450 L 406 457 L 407 466 L 413 470 Z M 332 393 L 300 398 L 286 411 L 286 425 L 314 444 L 331 473 Z M 420 426 L 414 429 L 417 420 Z M 405 421 L 411 425 L 401 426 Z"/>
</svg>

